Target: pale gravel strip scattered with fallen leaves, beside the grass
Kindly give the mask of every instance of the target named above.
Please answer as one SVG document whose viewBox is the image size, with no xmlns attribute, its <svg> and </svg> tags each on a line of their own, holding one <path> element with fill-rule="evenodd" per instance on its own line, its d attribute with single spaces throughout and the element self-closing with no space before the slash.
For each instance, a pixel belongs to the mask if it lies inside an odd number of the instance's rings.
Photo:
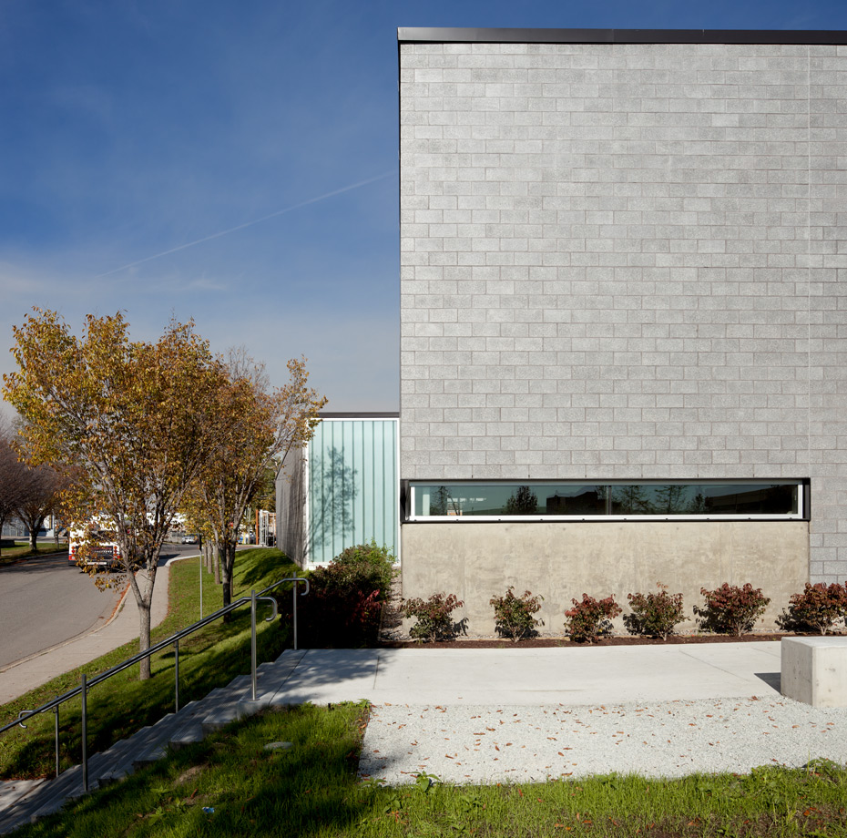
<svg viewBox="0 0 847 838">
<path fill-rule="evenodd" d="M 847 763 L 847 709 L 712 699 L 593 707 L 374 705 L 359 773 L 395 785 L 534 782 L 589 774 L 679 777 L 769 763 Z"/>
</svg>

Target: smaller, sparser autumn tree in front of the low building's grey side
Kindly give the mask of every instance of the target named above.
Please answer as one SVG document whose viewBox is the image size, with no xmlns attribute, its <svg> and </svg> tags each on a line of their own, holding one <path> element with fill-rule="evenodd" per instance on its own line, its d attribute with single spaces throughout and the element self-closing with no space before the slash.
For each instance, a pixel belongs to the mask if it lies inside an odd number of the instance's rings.
<svg viewBox="0 0 847 838">
<path fill-rule="evenodd" d="M 223 602 L 232 598 L 232 571 L 239 526 L 269 472 L 280 474 L 292 448 L 305 445 L 326 398 L 308 386 L 306 359 L 288 362 L 289 382 L 272 389 L 264 366 L 243 350 L 230 352 L 229 384 L 219 410 L 239 417 L 183 498 L 182 510 L 218 552 Z"/>
</svg>

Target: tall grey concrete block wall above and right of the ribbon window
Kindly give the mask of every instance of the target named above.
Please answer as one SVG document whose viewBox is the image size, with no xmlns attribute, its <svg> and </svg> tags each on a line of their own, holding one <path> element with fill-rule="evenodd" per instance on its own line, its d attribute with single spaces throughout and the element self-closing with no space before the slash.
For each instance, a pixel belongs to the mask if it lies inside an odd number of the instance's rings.
<svg viewBox="0 0 847 838">
<path fill-rule="evenodd" d="M 847 47 L 402 43 L 407 479 L 811 477 L 847 578 Z"/>
</svg>

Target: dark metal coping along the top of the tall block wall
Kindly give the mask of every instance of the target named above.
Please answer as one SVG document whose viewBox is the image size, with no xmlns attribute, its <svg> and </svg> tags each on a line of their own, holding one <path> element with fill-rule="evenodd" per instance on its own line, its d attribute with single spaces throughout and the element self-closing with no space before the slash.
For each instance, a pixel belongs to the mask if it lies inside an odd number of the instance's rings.
<svg viewBox="0 0 847 838">
<path fill-rule="evenodd" d="M 847 44 L 839 29 L 457 29 L 401 26 L 401 44 Z"/>
</svg>

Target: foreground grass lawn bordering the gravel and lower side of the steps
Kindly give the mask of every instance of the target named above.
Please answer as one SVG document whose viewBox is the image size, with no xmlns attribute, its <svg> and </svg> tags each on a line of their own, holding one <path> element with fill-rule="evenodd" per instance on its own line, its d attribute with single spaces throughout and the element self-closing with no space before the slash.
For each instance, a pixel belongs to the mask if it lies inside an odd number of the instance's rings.
<svg viewBox="0 0 847 838">
<path fill-rule="evenodd" d="M 763 768 L 648 781 L 610 775 L 496 786 L 356 779 L 362 704 L 270 710 L 68 804 L 29 836 L 838 836 L 847 772 Z M 271 742 L 290 750 L 265 750 Z"/>
</svg>

